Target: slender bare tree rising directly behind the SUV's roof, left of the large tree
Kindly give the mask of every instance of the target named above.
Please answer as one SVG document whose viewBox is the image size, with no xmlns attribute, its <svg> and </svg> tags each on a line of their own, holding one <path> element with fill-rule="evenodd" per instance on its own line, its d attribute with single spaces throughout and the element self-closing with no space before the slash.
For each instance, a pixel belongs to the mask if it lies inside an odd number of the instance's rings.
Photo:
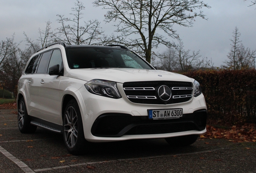
<svg viewBox="0 0 256 173">
<path fill-rule="evenodd" d="M 55 41 L 62 41 L 66 44 L 93 44 L 93 41 L 99 40 L 103 33 L 101 31 L 100 22 L 98 20 L 89 20 L 82 23 L 82 10 L 85 9 L 82 2 L 75 3 L 75 7 L 71 8 L 70 13 L 74 18 L 65 18 L 64 15 L 58 14 L 57 20 L 61 26 L 57 28 L 57 32 L 52 34 Z"/>
</svg>

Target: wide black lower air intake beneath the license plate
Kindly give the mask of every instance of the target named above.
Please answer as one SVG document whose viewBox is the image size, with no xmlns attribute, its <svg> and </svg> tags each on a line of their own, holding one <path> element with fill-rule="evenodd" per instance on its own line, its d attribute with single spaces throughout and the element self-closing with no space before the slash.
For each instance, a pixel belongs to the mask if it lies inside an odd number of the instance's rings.
<svg viewBox="0 0 256 173">
<path fill-rule="evenodd" d="M 205 109 L 184 114 L 179 119 L 152 120 L 148 116 L 128 114 L 103 114 L 93 123 L 91 133 L 100 137 L 121 137 L 122 135 L 150 135 L 183 131 L 202 131 L 206 126 Z"/>
</svg>

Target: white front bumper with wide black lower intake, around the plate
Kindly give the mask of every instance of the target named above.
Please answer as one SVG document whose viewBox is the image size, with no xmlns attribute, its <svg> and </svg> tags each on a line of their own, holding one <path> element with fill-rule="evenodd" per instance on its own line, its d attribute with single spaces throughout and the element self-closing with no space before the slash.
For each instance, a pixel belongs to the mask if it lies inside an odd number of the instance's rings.
<svg viewBox="0 0 256 173">
<path fill-rule="evenodd" d="M 132 103 L 124 91 L 122 98 L 111 99 L 89 93 L 85 87 L 79 106 L 83 119 L 85 139 L 90 142 L 123 141 L 129 139 L 154 139 L 206 133 L 207 108 L 204 96 L 170 105 Z M 151 120 L 148 109 L 183 109 L 180 119 Z"/>
</svg>

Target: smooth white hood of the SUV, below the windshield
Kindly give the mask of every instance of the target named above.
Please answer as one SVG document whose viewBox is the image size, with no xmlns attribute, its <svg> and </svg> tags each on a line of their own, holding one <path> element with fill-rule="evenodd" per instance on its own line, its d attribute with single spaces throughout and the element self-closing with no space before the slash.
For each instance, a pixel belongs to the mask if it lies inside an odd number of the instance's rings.
<svg viewBox="0 0 256 173">
<path fill-rule="evenodd" d="M 83 68 L 70 69 L 68 77 L 85 81 L 93 79 L 103 79 L 113 82 L 133 82 L 133 81 L 157 81 L 171 80 L 193 82 L 191 78 L 182 74 L 167 72 L 163 70 L 147 70 L 134 68 Z"/>
</svg>

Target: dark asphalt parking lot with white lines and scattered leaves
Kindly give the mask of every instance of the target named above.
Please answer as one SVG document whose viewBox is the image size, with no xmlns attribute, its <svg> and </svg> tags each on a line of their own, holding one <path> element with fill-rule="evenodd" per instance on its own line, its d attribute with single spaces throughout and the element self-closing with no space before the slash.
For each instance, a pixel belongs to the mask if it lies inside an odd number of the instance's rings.
<svg viewBox="0 0 256 173">
<path fill-rule="evenodd" d="M 170 147 L 164 139 L 93 143 L 70 155 L 61 134 L 22 134 L 14 109 L 0 110 L 0 173 L 256 173 L 256 143 L 198 139 Z"/>
</svg>

